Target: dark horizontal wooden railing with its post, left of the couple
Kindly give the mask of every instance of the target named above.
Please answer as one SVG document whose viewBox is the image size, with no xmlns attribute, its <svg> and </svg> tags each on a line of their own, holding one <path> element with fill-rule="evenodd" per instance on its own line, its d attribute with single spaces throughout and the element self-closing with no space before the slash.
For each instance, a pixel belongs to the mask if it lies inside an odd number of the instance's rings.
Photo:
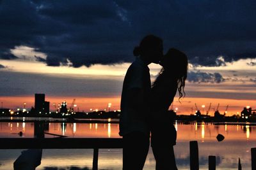
<svg viewBox="0 0 256 170">
<path fill-rule="evenodd" d="M 93 170 L 99 148 L 123 148 L 121 138 L 0 138 L 0 149 L 93 149 Z"/>
</svg>

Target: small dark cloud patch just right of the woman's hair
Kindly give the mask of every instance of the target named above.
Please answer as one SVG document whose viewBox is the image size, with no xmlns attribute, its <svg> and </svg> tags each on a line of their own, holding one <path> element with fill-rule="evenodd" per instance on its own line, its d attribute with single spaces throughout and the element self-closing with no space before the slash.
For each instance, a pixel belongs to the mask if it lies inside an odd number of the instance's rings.
<svg viewBox="0 0 256 170">
<path fill-rule="evenodd" d="M 193 83 L 221 83 L 225 78 L 220 73 L 189 71 L 187 80 Z"/>
</svg>

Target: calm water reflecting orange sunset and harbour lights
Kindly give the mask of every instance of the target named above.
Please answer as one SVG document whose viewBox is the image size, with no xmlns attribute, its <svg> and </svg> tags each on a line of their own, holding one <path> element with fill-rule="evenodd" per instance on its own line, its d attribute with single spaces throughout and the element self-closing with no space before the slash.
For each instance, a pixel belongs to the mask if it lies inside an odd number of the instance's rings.
<svg viewBox="0 0 256 170">
<path fill-rule="evenodd" d="M 256 127 L 248 125 L 175 124 L 178 169 L 189 169 L 189 141 L 198 141 L 200 169 L 208 169 L 208 156 L 216 155 L 216 169 L 237 169 L 238 158 L 243 169 L 251 169 L 250 148 L 256 146 Z M 18 132 L 24 136 L 20 137 Z M 0 122 L 0 138 L 33 138 L 33 123 Z M 118 124 L 50 123 L 46 130 L 68 138 L 120 138 Z M 223 134 L 224 141 L 216 136 Z M 45 138 L 54 136 L 45 135 Z M 22 150 L 1 150 L 0 169 L 13 169 Z M 36 169 L 92 169 L 93 150 L 43 150 L 42 163 Z M 144 169 L 155 169 L 150 149 Z M 121 149 L 100 149 L 99 169 L 122 169 Z"/>
</svg>

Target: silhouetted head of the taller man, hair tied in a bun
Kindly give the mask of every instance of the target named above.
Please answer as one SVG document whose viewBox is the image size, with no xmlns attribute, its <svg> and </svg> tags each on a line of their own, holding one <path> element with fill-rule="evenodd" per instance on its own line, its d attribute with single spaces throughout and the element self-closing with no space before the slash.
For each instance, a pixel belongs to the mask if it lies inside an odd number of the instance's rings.
<svg viewBox="0 0 256 170">
<path fill-rule="evenodd" d="M 163 40 L 154 35 L 145 36 L 133 50 L 134 56 L 140 56 L 145 62 L 159 63 L 163 57 Z"/>
</svg>

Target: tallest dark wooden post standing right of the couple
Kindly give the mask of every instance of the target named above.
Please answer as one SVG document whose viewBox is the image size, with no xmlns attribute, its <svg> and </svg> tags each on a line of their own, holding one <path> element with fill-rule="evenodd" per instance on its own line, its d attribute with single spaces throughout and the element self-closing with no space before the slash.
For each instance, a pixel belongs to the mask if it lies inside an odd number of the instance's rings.
<svg viewBox="0 0 256 170">
<path fill-rule="evenodd" d="M 189 150 L 190 150 L 190 169 L 198 170 L 199 169 L 199 161 L 198 161 L 197 141 L 189 141 Z"/>
</svg>

